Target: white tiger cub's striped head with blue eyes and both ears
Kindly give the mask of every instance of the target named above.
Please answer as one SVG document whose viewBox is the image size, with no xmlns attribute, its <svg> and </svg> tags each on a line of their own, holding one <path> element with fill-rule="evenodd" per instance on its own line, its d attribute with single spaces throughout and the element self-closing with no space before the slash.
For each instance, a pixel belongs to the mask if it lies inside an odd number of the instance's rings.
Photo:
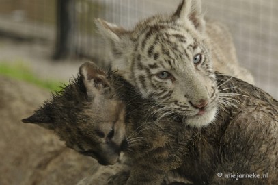
<svg viewBox="0 0 278 185">
<path fill-rule="evenodd" d="M 199 0 L 182 1 L 170 16 L 152 16 L 131 31 L 96 24 L 110 45 L 112 68 L 154 101 L 161 118 L 182 116 L 194 127 L 214 120 L 218 91 Z"/>
</svg>

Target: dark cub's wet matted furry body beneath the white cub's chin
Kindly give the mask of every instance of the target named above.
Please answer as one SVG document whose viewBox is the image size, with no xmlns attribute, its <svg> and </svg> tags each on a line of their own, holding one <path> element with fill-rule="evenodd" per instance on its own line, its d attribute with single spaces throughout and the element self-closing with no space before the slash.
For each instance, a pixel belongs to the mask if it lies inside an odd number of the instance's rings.
<svg viewBox="0 0 278 185">
<path fill-rule="evenodd" d="M 260 88 L 217 74 L 217 119 L 197 128 L 182 123 L 180 117 L 158 119 L 152 100 L 142 99 L 117 73 L 100 71 L 90 62 L 80 71 L 92 77 L 85 79 L 87 84 L 106 84 L 105 88 L 126 106 L 125 134 L 121 134 L 120 143 L 126 143 L 125 158 L 132 165 L 128 173 L 111 177 L 110 184 L 126 180 L 126 184 L 161 184 L 171 171 L 194 184 L 277 182 L 278 103 Z M 225 176 L 252 173 L 260 178 L 235 180 Z M 262 178 L 263 174 L 268 177 Z"/>
</svg>

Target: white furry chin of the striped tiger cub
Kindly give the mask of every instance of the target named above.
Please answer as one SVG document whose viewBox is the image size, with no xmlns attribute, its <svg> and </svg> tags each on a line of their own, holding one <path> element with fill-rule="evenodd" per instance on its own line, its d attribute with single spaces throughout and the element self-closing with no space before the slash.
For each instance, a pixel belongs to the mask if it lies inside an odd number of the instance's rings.
<svg viewBox="0 0 278 185">
<path fill-rule="evenodd" d="M 206 127 L 214 121 L 216 115 L 217 106 L 214 106 L 213 108 L 210 108 L 210 110 L 199 110 L 197 114 L 186 117 L 184 122 L 193 127 Z"/>
</svg>

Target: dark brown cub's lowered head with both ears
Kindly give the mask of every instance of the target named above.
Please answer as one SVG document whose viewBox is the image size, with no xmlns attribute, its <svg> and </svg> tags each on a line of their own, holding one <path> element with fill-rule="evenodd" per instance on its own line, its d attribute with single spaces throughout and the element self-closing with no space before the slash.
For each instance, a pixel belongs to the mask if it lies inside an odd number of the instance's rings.
<svg viewBox="0 0 278 185">
<path fill-rule="evenodd" d="M 76 79 L 22 121 L 53 130 L 68 147 L 100 164 L 115 164 L 124 145 L 125 110 L 107 75 L 86 62 Z"/>
</svg>

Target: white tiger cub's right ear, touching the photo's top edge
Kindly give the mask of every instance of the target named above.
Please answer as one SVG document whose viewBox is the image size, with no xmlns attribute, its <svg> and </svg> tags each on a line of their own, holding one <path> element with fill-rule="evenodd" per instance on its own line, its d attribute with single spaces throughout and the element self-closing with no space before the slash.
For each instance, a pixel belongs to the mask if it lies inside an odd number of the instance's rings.
<svg viewBox="0 0 278 185">
<path fill-rule="evenodd" d="M 189 20 L 199 32 L 205 32 L 206 22 L 204 20 L 204 14 L 201 12 L 200 0 L 182 0 L 182 3 L 180 3 L 176 12 L 173 14 L 173 18 L 177 21 Z"/>
</svg>

